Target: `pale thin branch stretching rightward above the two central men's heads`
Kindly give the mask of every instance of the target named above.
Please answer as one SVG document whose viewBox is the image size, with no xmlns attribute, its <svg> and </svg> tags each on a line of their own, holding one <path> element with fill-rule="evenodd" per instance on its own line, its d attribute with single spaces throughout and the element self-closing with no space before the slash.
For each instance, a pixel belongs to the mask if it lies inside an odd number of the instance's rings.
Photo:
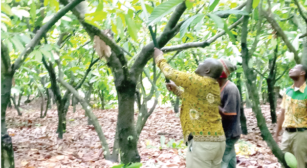
<svg viewBox="0 0 307 168">
<path fill-rule="evenodd" d="M 240 18 L 239 20 L 237 20 L 236 22 L 234 22 L 233 24 L 231 24 L 228 27 L 228 29 L 229 30 L 233 29 L 234 27 L 236 27 L 242 21 L 243 21 L 243 17 Z M 206 46 L 209 46 L 212 42 L 214 42 L 216 39 L 218 39 L 219 37 L 223 36 L 224 34 L 226 34 L 226 32 L 225 31 L 221 31 L 220 33 L 217 33 L 215 36 L 209 38 L 206 41 L 190 42 L 190 43 L 186 43 L 186 44 L 167 46 L 167 47 L 163 47 L 161 50 L 163 52 L 171 52 L 171 51 L 185 50 L 185 49 L 189 49 L 189 48 L 204 48 Z"/>
</svg>

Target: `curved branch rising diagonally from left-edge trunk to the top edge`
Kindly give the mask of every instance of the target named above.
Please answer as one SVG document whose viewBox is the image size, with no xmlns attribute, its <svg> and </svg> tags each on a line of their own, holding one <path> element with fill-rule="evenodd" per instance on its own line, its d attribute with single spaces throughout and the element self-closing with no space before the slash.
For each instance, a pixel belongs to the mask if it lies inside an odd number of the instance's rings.
<svg viewBox="0 0 307 168">
<path fill-rule="evenodd" d="M 75 6 L 77 6 L 80 2 L 84 0 L 74 0 L 69 3 L 67 6 L 62 8 L 59 12 L 57 12 L 51 20 L 49 20 L 46 24 L 44 24 L 39 31 L 37 31 L 34 38 L 27 44 L 25 50 L 21 52 L 15 63 L 13 64 L 13 72 L 20 68 L 20 66 L 25 62 L 28 55 L 34 50 L 34 47 L 38 45 L 41 38 L 49 31 L 49 29 L 67 12 L 72 10 Z"/>
</svg>

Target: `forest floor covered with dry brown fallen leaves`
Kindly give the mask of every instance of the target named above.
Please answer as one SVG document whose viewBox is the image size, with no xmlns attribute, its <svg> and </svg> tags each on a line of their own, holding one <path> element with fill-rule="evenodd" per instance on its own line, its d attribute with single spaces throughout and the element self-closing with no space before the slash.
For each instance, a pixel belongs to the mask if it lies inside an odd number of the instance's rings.
<svg viewBox="0 0 307 168">
<path fill-rule="evenodd" d="M 278 100 L 278 106 L 280 100 Z M 21 105 L 22 116 L 14 108 L 7 109 L 6 123 L 12 136 L 15 167 L 112 167 L 112 163 L 103 158 L 103 150 L 97 133 L 92 125 L 87 125 L 84 110 L 77 106 L 76 113 L 69 107 L 67 114 L 67 133 L 63 139 L 57 137 L 57 110 L 53 105 L 47 117 L 40 119 L 40 102 Z M 271 133 L 275 124 L 271 123 L 269 104 L 262 105 Z M 104 135 L 112 150 L 117 109 L 93 109 Z M 280 110 L 277 109 L 277 114 Z M 255 115 L 245 108 L 248 135 L 242 135 L 235 145 L 237 167 L 280 167 L 260 136 Z M 135 118 L 137 114 L 135 114 Z M 165 145 L 161 147 L 161 136 Z M 162 136 L 162 139 L 163 139 Z M 148 118 L 139 139 L 139 153 L 142 167 L 185 167 L 185 145 L 182 144 L 182 130 L 178 114 L 171 108 L 156 108 Z M 281 137 L 279 137 L 279 143 Z"/>
</svg>

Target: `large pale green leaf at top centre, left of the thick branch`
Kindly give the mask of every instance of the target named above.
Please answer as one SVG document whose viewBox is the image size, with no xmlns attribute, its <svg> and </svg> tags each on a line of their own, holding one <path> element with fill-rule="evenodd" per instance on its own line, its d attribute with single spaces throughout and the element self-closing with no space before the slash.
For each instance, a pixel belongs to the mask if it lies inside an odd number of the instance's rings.
<svg viewBox="0 0 307 168">
<path fill-rule="evenodd" d="M 182 3 L 183 0 L 169 0 L 161 5 L 158 5 L 153 11 L 151 12 L 147 24 L 155 24 L 157 21 L 160 21 L 162 17 L 169 14 L 176 6 Z"/>
</svg>

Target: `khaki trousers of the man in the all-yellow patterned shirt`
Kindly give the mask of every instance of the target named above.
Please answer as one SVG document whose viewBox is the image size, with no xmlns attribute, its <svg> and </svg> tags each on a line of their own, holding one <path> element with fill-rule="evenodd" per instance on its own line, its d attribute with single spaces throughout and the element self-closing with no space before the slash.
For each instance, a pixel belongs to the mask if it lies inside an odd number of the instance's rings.
<svg viewBox="0 0 307 168">
<path fill-rule="evenodd" d="M 186 166 L 187 168 L 221 168 L 226 143 L 188 142 Z"/>
</svg>

